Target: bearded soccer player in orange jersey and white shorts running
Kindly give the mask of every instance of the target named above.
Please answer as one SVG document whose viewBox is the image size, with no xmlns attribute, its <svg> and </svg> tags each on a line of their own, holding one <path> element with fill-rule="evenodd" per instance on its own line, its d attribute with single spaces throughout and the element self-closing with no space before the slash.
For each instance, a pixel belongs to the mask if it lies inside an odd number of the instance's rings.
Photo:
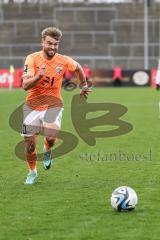
<svg viewBox="0 0 160 240">
<path fill-rule="evenodd" d="M 58 28 L 48 27 L 41 33 L 42 50 L 27 56 L 23 73 L 23 89 L 28 91 L 23 107 L 24 122 L 22 135 L 25 139 L 25 156 L 29 173 L 25 184 L 33 184 L 37 174 L 36 138 L 44 131 L 45 169 L 52 164 L 51 148 L 57 140 L 61 127 L 63 100 L 61 85 L 64 72 L 75 72 L 81 82 L 81 97 L 89 93 L 84 71 L 81 65 L 71 57 L 59 54 L 58 47 L 62 32 Z"/>
</svg>

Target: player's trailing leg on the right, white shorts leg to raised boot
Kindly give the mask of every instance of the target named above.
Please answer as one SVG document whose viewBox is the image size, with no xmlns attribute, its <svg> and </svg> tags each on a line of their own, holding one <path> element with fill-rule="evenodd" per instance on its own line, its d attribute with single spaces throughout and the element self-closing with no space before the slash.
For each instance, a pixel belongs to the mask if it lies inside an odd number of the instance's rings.
<svg viewBox="0 0 160 240">
<path fill-rule="evenodd" d="M 48 109 L 44 117 L 44 168 L 50 169 L 52 164 L 52 147 L 58 139 L 58 131 L 61 127 L 63 108 Z"/>
</svg>

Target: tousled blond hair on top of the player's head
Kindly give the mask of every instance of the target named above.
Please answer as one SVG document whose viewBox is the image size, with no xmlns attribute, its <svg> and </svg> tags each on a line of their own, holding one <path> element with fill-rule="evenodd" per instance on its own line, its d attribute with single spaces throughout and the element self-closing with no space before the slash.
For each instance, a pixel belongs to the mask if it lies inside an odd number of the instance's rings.
<svg viewBox="0 0 160 240">
<path fill-rule="evenodd" d="M 55 38 L 56 40 L 60 40 L 62 37 L 62 32 L 58 28 L 48 27 L 43 29 L 41 36 L 42 36 L 42 39 L 45 39 L 45 37 L 49 36 L 49 37 Z"/>
</svg>

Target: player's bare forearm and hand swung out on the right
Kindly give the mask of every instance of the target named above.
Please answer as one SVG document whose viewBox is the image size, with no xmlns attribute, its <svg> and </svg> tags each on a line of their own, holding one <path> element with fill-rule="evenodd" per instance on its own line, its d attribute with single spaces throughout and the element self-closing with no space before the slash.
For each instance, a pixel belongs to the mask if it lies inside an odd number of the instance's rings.
<svg viewBox="0 0 160 240">
<path fill-rule="evenodd" d="M 81 86 L 82 86 L 80 96 L 81 97 L 84 96 L 85 98 L 87 98 L 87 95 L 90 92 L 90 89 L 88 88 L 88 84 L 87 84 L 87 81 L 86 81 L 86 77 L 85 77 L 83 68 L 79 63 L 77 63 L 77 68 L 75 70 L 75 73 L 76 73 L 78 79 L 80 80 L 80 83 L 81 83 Z"/>
</svg>

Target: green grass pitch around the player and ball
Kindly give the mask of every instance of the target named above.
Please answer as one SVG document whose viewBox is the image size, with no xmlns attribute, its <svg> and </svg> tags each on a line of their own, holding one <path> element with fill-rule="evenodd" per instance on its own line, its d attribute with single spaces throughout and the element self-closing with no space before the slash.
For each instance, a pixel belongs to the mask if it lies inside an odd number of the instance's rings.
<svg viewBox="0 0 160 240">
<path fill-rule="evenodd" d="M 62 129 L 78 137 L 70 114 L 75 93 L 77 90 L 63 91 Z M 158 93 L 149 88 L 94 89 L 88 102 L 125 105 L 128 112 L 121 119 L 130 122 L 133 130 L 119 137 L 98 138 L 94 147 L 79 138 L 77 148 L 57 158 L 50 171 L 38 163 L 39 178 L 33 186 L 23 184 L 27 167 L 14 154 L 14 147 L 22 139 L 8 123 L 10 114 L 24 99 L 25 92 L 21 90 L 0 92 L 0 239 L 159 239 Z M 42 148 L 41 141 L 38 147 Z M 79 156 L 83 152 L 119 150 L 147 156 L 151 150 L 151 159 L 86 161 Z M 132 187 L 138 194 L 139 203 L 133 212 L 118 213 L 110 206 L 112 191 L 122 185 Z"/>
</svg>

